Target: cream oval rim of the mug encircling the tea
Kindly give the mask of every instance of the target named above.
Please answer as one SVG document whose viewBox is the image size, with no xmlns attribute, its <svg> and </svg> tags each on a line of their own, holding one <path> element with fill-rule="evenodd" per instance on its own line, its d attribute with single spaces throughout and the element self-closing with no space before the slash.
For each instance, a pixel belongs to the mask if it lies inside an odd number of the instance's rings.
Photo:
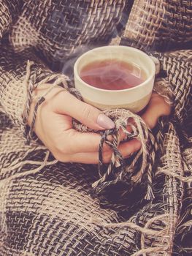
<svg viewBox="0 0 192 256">
<path fill-rule="evenodd" d="M 134 50 L 138 53 L 141 53 L 142 55 L 144 55 L 145 57 L 147 57 L 147 59 L 149 59 L 149 61 L 151 62 L 152 64 L 152 68 L 153 68 L 153 72 L 151 72 L 151 75 L 149 75 L 149 77 L 142 83 L 140 83 L 138 86 L 134 86 L 134 87 L 131 87 L 131 88 L 127 88 L 127 89 L 120 89 L 120 90 L 107 90 L 107 89 L 101 89 L 101 88 L 97 88 L 95 86 L 91 86 L 90 84 L 86 83 L 84 80 L 82 80 L 82 78 L 80 77 L 79 73 L 77 72 L 77 67 L 78 67 L 78 64 L 80 64 L 80 61 L 82 60 L 82 58 L 84 58 L 86 55 L 88 55 L 89 53 L 93 52 L 93 51 L 97 51 L 97 50 L 100 50 L 100 49 L 104 49 L 104 48 L 126 48 L 126 49 L 131 49 L 131 50 Z M 148 83 L 152 78 L 153 76 L 155 75 L 155 63 L 153 62 L 153 60 L 150 58 L 149 55 L 147 55 L 147 53 L 143 52 L 142 50 L 139 50 L 137 48 L 134 48 L 134 47 L 131 47 L 131 46 L 126 46 L 126 45 L 106 45 L 106 46 L 101 46 L 101 47 L 97 47 L 97 48 L 93 48 L 91 50 L 88 50 L 87 52 L 83 53 L 78 59 L 77 61 L 75 61 L 75 64 L 74 64 L 74 76 L 80 80 L 81 83 L 83 83 L 85 86 L 87 86 L 88 88 L 90 89 L 94 89 L 96 91 L 105 91 L 105 92 L 120 92 L 120 91 L 133 91 L 135 89 L 138 89 L 139 87 L 142 87 L 142 86 L 145 86 L 145 83 Z"/>
</svg>

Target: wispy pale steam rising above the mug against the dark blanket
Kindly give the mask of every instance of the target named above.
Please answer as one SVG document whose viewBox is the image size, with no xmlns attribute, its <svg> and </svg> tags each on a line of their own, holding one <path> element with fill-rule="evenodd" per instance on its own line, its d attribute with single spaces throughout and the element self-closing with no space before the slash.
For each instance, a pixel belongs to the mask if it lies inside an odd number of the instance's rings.
<svg viewBox="0 0 192 256">
<path fill-rule="evenodd" d="M 123 1 L 120 4 L 114 3 L 114 7 L 111 7 L 108 1 L 103 1 L 93 15 L 86 11 L 88 10 L 87 8 L 83 12 L 84 7 L 79 6 L 75 1 L 70 5 L 67 5 L 66 2 L 64 1 L 61 6 L 55 6 L 54 11 L 47 20 L 47 31 L 49 31 L 50 40 L 53 39 L 53 45 L 56 41 L 60 42 L 58 49 L 54 50 L 54 53 L 53 50 L 49 52 L 53 58 L 53 65 L 54 63 L 59 63 L 60 71 L 72 78 L 72 70 L 77 58 L 88 50 L 101 45 L 108 45 L 112 38 L 119 35 L 120 27 L 125 26 L 127 15 L 123 12 L 125 7 Z M 90 3 L 87 4 L 89 5 Z M 107 20 L 104 20 L 106 25 L 103 24 L 104 26 L 99 29 L 101 20 L 96 20 L 97 15 L 101 10 L 109 10 L 110 12 L 111 8 L 115 8 L 115 12 L 119 13 L 119 15 L 117 16 L 111 12 L 111 15 L 114 15 L 114 19 L 111 19 L 113 21 L 108 23 Z M 96 22 L 98 22 L 98 25 L 91 25 Z M 106 35 L 103 36 L 103 34 Z M 107 41 L 105 41 L 106 38 Z"/>
</svg>

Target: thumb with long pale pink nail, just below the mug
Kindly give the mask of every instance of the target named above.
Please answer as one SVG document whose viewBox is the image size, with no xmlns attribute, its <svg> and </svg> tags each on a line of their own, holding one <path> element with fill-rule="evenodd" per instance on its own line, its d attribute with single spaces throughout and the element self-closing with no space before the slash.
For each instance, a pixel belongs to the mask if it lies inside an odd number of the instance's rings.
<svg viewBox="0 0 192 256">
<path fill-rule="evenodd" d="M 57 100 L 57 112 L 72 116 L 91 129 L 112 129 L 115 127 L 113 121 L 101 110 L 81 102 L 67 91 L 59 94 Z"/>
</svg>

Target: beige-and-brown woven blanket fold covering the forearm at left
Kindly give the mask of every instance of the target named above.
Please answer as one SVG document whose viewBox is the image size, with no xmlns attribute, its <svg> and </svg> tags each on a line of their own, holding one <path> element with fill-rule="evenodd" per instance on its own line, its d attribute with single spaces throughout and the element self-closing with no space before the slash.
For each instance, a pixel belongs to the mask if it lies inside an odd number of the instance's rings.
<svg viewBox="0 0 192 256">
<path fill-rule="evenodd" d="M 54 84 L 66 87 L 68 78 L 48 69 L 33 50 L 15 53 L 9 44 L 0 44 L 1 108 L 15 125 L 20 126 L 25 137 L 33 91 L 44 83 L 50 83 L 50 88 Z"/>
</svg>

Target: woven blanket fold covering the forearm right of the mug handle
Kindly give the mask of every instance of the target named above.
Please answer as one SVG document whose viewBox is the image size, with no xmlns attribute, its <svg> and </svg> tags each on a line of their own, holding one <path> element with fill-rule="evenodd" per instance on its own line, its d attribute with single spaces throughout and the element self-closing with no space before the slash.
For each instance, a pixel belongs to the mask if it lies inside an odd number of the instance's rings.
<svg viewBox="0 0 192 256">
<path fill-rule="evenodd" d="M 192 50 L 174 50 L 155 56 L 160 60 L 161 73 L 155 80 L 154 91 L 172 105 L 180 124 L 189 121 L 192 112 Z"/>
</svg>

